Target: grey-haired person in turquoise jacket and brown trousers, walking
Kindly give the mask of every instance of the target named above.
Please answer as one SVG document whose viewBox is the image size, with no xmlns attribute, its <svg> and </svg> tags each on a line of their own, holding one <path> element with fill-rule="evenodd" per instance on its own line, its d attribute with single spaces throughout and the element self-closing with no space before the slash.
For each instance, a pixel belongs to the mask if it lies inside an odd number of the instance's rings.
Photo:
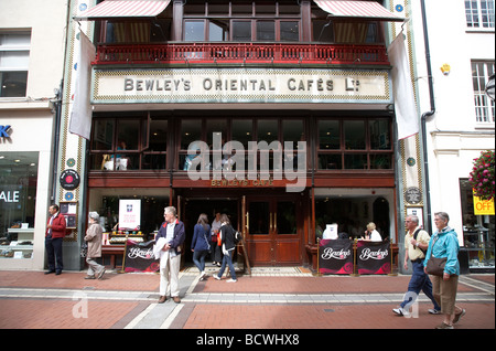
<svg viewBox="0 0 496 351">
<path fill-rule="evenodd" d="M 450 216 L 445 212 L 434 213 L 434 224 L 438 231 L 429 242 L 423 265 L 427 267 L 431 257 L 446 258 L 443 276 L 432 276 L 433 294 L 441 305 L 443 322 L 436 329 L 453 329 L 460 318 L 465 315 L 465 309 L 456 306 L 456 290 L 459 286 L 459 238 L 456 232 L 448 225 Z M 427 268 L 424 269 L 427 273 Z"/>
</svg>

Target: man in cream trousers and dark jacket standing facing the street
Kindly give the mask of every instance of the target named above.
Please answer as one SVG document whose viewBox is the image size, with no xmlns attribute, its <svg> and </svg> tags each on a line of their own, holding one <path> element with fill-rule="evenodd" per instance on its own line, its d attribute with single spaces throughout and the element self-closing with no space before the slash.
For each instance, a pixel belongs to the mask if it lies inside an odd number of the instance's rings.
<svg viewBox="0 0 496 351">
<path fill-rule="evenodd" d="M 181 267 L 181 245 L 184 243 L 184 223 L 177 220 L 175 208 L 169 206 L 164 210 L 165 222 L 160 226 L 157 242 L 163 238 L 160 255 L 160 298 L 159 304 L 166 300 L 166 291 L 171 288 L 171 298 L 175 304 L 181 302 L 179 296 L 179 270 Z"/>
</svg>

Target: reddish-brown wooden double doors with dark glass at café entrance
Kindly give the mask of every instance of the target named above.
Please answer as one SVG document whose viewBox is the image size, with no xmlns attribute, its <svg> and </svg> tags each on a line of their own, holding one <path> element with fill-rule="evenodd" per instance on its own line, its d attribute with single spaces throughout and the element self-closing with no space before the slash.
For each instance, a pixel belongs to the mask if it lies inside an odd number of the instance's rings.
<svg viewBox="0 0 496 351">
<path fill-rule="evenodd" d="M 246 244 L 252 266 L 301 264 L 299 203 L 295 196 L 246 199 Z"/>
</svg>

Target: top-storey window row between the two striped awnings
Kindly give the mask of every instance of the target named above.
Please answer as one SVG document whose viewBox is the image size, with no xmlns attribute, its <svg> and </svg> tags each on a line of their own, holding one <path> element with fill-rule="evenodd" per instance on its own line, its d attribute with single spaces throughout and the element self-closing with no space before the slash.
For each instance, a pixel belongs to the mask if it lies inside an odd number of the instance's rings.
<svg viewBox="0 0 496 351">
<path fill-rule="evenodd" d="M 301 11 L 294 1 L 188 1 L 184 6 L 186 42 L 298 42 Z"/>
</svg>

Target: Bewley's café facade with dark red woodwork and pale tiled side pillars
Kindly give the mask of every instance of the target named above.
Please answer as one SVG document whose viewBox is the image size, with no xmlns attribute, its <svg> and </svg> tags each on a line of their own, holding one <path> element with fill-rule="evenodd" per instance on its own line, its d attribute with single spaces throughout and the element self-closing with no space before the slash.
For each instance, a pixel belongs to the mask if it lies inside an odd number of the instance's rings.
<svg viewBox="0 0 496 351">
<path fill-rule="evenodd" d="M 73 0 L 58 174 L 80 182 L 56 189 L 74 225 L 69 265 L 89 211 L 110 254 L 126 232 L 152 238 L 166 205 L 185 222 L 186 253 L 201 213 L 227 213 L 251 265 L 315 266 L 334 223 L 360 237 L 375 222 L 401 247 L 424 185 L 419 135 L 397 137 L 387 50 L 405 33 L 414 75 L 412 8 L 337 2 Z M 68 131 L 79 30 L 96 50 L 88 140 Z"/>
</svg>

